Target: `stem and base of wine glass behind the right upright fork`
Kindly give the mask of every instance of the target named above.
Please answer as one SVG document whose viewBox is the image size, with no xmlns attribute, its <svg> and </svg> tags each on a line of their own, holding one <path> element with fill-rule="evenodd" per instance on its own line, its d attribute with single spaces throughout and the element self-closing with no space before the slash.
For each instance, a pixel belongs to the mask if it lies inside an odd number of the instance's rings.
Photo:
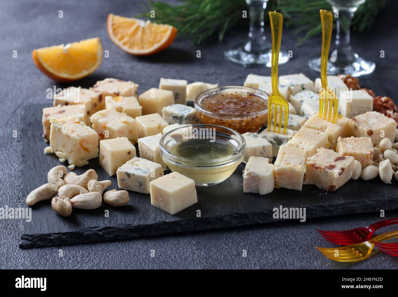
<svg viewBox="0 0 398 297">
<path fill-rule="evenodd" d="M 332 51 L 328 61 L 328 74 L 349 74 L 353 77 L 367 75 L 375 70 L 375 62 L 358 56 L 351 48 L 350 26 L 354 12 L 366 0 L 327 0 L 336 17 L 336 48 Z M 308 62 L 310 68 L 320 72 L 321 58 L 313 57 Z"/>
</svg>

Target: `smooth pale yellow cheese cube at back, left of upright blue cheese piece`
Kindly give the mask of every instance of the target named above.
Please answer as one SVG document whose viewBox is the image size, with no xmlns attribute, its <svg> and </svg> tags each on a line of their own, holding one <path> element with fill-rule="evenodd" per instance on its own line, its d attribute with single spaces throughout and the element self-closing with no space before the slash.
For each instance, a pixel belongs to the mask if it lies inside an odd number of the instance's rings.
<svg viewBox="0 0 398 297">
<path fill-rule="evenodd" d="M 142 114 L 162 115 L 165 106 L 174 104 L 174 95 L 169 90 L 152 88 L 140 94 L 138 100 L 142 106 Z"/>
</svg>

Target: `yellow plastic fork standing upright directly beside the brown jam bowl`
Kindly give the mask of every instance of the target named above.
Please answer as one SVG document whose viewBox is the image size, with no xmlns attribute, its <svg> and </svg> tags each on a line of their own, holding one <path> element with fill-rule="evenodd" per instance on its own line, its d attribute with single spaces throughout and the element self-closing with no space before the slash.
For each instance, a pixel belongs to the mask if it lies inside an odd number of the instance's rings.
<svg viewBox="0 0 398 297">
<path fill-rule="evenodd" d="M 281 48 L 282 37 L 282 14 L 279 12 L 269 12 L 269 21 L 271 23 L 272 33 L 272 67 L 271 67 L 271 82 L 272 94 L 268 98 L 268 124 L 267 130 L 271 130 L 271 114 L 272 106 L 274 110 L 273 117 L 273 132 L 276 130 L 277 119 L 279 119 L 278 132 L 281 133 L 282 126 L 282 111 L 283 111 L 283 134 L 286 134 L 287 121 L 289 120 L 289 104 L 278 88 L 278 63 L 279 63 L 279 49 Z M 277 110 L 279 110 L 279 118 L 277 118 Z"/>
</svg>

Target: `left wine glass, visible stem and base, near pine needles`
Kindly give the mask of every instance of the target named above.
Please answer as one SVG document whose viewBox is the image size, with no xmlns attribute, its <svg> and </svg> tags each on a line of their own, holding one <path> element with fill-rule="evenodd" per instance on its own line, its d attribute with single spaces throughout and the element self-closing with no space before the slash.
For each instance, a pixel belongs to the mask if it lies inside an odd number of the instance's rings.
<svg viewBox="0 0 398 297">
<path fill-rule="evenodd" d="M 249 8 L 249 40 L 224 52 L 224 56 L 240 65 L 271 67 L 272 45 L 264 34 L 264 12 L 268 0 L 246 0 Z M 286 51 L 279 52 L 279 65 L 289 60 Z"/>
</svg>

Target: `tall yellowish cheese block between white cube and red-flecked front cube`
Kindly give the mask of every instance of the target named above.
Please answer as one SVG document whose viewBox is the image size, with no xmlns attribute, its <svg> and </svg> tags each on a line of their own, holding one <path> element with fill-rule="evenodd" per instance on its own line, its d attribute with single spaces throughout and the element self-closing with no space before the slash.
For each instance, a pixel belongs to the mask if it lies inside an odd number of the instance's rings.
<svg viewBox="0 0 398 297">
<path fill-rule="evenodd" d="M 276 187 L 301 191 L 304 179 L 305 151 L 281 146 L 275 160 Z"/>
</svg>

